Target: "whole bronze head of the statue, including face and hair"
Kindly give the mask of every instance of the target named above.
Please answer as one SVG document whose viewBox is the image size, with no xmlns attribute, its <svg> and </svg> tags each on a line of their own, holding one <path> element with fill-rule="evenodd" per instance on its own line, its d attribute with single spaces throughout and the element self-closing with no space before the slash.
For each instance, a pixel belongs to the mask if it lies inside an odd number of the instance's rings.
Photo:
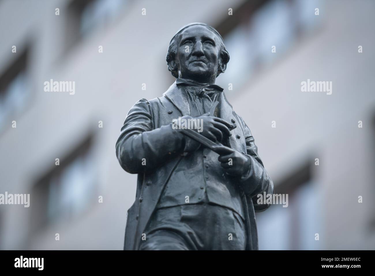
<svg viewBox="0 0 375 276">
<path fill-rule="evenodd" d="M 175 78 L 201 83 L 214 83 L 228 61 L 222 37 L 204 23 L 190 23 L 178 30 L 166 55 L 168 70 Z"/>
</svg>

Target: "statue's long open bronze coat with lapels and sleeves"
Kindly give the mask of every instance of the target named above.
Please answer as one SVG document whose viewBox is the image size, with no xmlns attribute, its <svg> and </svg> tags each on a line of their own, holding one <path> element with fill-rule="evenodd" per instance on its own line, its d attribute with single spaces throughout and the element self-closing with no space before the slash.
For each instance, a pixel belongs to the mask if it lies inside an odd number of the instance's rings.
<svg viewBox="0 0 375 276">
<path fill-rule="evenodd" d="M 263 192 L 272 194 L 273 182 L 258 156 L 249 128 L 233 111 L 223 92 L 220 94 L 218 108 L 220 118 L 228 122 L 233 119 L 237 123 L 237 128 L 231 131 L 232 135 L 229 137 L 231 148 L 250 156 L 249 173 L 245 179 L 239 179 L 239 182 L 245 187 L 241 198 L 246 220 L 246 250 L 257 250 L 255 212 L 269 207 L 267 204 L 257 204 L 257 195 Z M 135 202 L 127 211 L 124 250 L 138 250 L 142 233 L 163 189 L 184 158 L 182 151 L 185 138 L 171 127 L 173 119 L 184 115 L 190 115 L 189 102 L 184 97 L 181 86 L 176 83 L 169 87 L 163 97 L 149 101 L 139 100 L 127 114 L 116 143 L 116 155 L 124 170 L 138 174 L 138 181 Z"/>
</svg>

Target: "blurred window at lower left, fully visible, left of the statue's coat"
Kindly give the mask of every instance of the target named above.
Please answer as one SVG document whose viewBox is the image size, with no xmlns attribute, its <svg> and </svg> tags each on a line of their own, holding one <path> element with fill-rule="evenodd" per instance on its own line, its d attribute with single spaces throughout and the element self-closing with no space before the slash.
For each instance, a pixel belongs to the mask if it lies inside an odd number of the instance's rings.
<svg viewBox="0 0 375 276">
<path fill-rule="evenodd" d="M 92 136 L 60 159 L 34 186 L 33 228 L 80 216 L 96 201 L 97 174 Z M 30 206 L 31 208 L 31 206 Z"/>
</svg>

